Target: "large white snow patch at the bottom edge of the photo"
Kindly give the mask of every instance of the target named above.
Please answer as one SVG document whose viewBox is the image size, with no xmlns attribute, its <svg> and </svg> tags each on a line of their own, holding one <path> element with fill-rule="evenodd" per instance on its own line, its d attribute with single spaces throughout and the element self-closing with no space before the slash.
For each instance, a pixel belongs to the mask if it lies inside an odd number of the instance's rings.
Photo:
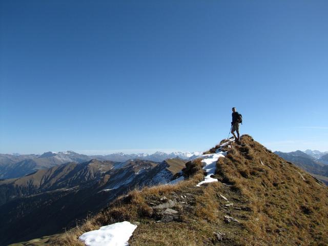
<svg viewBox="0 0 328 246">
<path fill-rule="evenodd" d="M 100 227 L 99 230 L 86 232 L 78 239 L 87 246 L 127 246 L 129 238 L 136 228 L 135 224 L 123 221 Z"/>
</svg>

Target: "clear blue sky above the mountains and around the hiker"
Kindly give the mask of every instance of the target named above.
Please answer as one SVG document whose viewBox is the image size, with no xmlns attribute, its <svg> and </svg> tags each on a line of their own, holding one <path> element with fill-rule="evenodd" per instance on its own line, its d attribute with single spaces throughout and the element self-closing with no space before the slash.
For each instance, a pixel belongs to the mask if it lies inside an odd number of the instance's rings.
<svg viewBox="0 0 328 246">
<path fill-rule="evenodd" d="M 0 3 L 0 153 L 328 150 L 328 1 Z"/>
</svg>

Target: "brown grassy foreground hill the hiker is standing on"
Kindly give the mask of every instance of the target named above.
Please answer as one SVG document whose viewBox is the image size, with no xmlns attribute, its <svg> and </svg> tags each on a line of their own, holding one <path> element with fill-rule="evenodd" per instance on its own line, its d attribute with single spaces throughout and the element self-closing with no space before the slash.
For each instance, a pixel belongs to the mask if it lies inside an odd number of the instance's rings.
<svg viewBox="0 0 328 246">
<path fill-rule="evenodd" d="M 216 158 L 215 182 L 197 185 Z M 187 162 L 183 176 L 120 196 L 79 227 L 39 240 L 84 245 L 84 232 L 127 220 L 137 224 L 132 246 L 328 244 L 327 187 L 248 135 Z"/>
</svg>

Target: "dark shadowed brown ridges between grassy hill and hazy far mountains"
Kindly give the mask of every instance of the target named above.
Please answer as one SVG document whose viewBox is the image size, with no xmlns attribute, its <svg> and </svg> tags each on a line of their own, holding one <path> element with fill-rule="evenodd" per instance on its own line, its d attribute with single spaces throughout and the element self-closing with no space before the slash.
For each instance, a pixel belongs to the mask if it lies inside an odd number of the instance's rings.
<svg viewBox="0 0 328 246">
<path fill-rule="evenodd" d="M 0 181 L 0 245 L 63 232 L 129 190 L 169 182 L 170 163 L 91 160 Z"/>
</svg>

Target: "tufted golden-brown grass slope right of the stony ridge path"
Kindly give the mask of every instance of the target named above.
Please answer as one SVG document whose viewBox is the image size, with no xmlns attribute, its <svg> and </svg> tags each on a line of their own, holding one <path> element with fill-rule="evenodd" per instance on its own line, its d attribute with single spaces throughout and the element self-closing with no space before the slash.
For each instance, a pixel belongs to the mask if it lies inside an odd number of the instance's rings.
<svg viewBox="0 0 328 246">
<path fill-rule="evenodd" d="M 253 211 L 243 222 L 250 232 L 243 243 L 328 245 L 327 188 L 252 137 L 242 136 L 241 145 L 218 160 L 217 174 Z"/>
</svg>

